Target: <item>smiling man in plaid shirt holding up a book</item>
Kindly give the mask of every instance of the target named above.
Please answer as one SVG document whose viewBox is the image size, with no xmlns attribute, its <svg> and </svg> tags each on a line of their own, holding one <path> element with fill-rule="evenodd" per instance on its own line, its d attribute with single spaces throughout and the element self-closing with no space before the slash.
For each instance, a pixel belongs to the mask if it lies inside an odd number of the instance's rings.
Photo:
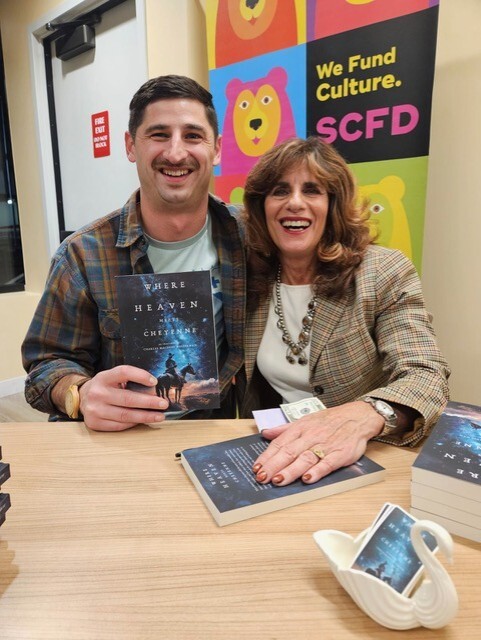
<svg viewBox="0 0 481 640">
<path fill-rule="evenodd" d="M 190 417 L 231 417 L 231 381 L 242 365 L 245 264 L 234 216 L 209 195 L 221 137 L 212 96 L 194 80 L 160 76 L 130 103 L 125 147 L 140 189 L 122 209 L 68 237 L 22 346 L 25 396 L 51 418 L 83 418 L 117 431 L 165 419 L 157 380 L 123 364 L 114 278 L 211 269 L 221 409 Z M 152 388 L 128 390 L 127 382 Z"/>
</svg>

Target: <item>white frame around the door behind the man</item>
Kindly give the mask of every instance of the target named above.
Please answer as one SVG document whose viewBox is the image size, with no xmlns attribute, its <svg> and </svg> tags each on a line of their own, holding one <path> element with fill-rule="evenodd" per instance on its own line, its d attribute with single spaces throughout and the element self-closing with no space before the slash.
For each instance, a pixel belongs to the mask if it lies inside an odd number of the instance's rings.
<svg viewBox="0 0 481 640">
<path fill-rule="evenodd" d="M 52 32 L 47 29 L 47 23 L 59 21 L 67 22 L 81 17 L 106 4 L 108 0 L 66 0 L 35 21 L 28 28 L 30 64 L 32 69 L 32 94 L 35 100 L 35 129 L 39 153 L 42 210 L 48 243 L 48 252 L 52 256 L 60 243 L 58 221 L 58 207 L 54 170 L 54 155 L 52 152 L 52 136 L 50 133 L 50 114 L 47 94 L 47 76 L 44 60 L 43 41 Z M 139 46 L 145 52 L 141 64 L 144 67 L 144 78 L 148 78 L 147 65 L 147 31 L 145 17 L 145 0 L 135 1 L 137 34 Z"/>
</svg>

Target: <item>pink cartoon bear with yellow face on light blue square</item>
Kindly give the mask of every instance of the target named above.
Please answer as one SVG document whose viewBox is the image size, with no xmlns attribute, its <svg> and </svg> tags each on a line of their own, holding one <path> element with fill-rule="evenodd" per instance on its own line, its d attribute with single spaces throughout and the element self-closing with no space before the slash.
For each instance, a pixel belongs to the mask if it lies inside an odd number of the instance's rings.
<svg viewBox="0 0 481 640">
<path fill-rule="evenodd" d="M 248 173 L 259 156 L 296 135 L 286 93 L 287 72 L 274 67 L 257 80 L 230 80 L 226 86 L 221 174 Z"/>
</svg>

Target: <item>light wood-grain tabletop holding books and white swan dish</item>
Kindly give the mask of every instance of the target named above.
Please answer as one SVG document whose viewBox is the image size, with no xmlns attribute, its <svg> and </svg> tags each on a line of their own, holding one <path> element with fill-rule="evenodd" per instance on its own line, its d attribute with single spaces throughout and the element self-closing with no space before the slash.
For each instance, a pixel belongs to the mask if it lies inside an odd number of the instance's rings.
<svg viewBox="0 0 481 640">
<path fill-rule="evenodd" d="M 361 612 L 312 539 L 357 534 L 386 500 L 409 507 L 412 451 L 373 443 L 385 482 L 217 527 L 174 453 L 253 432 L 179 421 L 96 433 L 0 424 L 12 507 L 0 528 L 2 640 L 476 638 L 480 545 L 455 538 L 460 611 L 447 627 L 385 629 Z"/>
</svg>

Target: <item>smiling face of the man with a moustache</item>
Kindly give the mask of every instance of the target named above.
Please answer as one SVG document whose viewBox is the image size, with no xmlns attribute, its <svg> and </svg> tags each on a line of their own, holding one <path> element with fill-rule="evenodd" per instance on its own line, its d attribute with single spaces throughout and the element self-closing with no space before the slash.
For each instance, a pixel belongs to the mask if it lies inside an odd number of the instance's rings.
<svg viewBox="0 0 481 640">
<path fill-rule="evenodd" d="M 206 208 L 221 140 L 214 139 L 204 105 L 184 98 L 150 103 L 135 139 L 125 134 L 125 146 L 149 206 L 185 213 Z"/>
</svg>

